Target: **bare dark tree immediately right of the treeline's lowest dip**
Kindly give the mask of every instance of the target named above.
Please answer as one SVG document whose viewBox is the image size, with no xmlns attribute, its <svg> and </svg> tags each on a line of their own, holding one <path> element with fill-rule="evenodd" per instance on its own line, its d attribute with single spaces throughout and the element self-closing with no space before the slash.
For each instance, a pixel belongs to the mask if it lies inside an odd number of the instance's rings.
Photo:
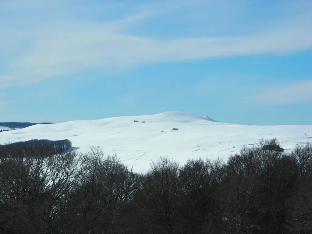
<svg viewBox="0 0 312 234">
<path fill-rule="evenodd" d="M 137 199 L 145 233 L 178 233 L 181 186 L 178 163 L 161 158 L 151 164 Z"/>
</svg>

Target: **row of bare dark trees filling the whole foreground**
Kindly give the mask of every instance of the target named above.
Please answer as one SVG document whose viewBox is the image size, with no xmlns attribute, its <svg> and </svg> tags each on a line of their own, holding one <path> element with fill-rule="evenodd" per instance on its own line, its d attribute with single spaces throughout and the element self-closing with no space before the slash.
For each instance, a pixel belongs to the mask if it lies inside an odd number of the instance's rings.
<svg viewBox="0 0 312 234">
<path fill-rule="evenodd" d="M 2 233 L 312 233 L 312 145 L 169 158 L 133 172 L 100 148 L 0 159 Z"/>
</svg>

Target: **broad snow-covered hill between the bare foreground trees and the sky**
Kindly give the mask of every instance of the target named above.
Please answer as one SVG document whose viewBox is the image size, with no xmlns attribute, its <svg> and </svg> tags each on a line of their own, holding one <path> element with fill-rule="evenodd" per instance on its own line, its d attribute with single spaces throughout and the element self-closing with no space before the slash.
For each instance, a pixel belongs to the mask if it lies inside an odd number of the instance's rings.
<svg viewBox="0 0 312 234">
<path fill-rule="evenodd" d="M 139 120 L 139 122 L 134 122 Z M 142 123 L 141 121 L 145 121 Z M 171 131 L 178 128 L 178 131 Z M 163 132 L 162 132 L 163 131 Z M 307 134 L 307 135 L 305 135 Z M 100 146 L 134 171 L 146 172 L 152 160 L 168 156 L 180 164 L 188 158 L 223 158 L 259 139 L 277 138 L 287 151 L 312 142 L 312 125 L 255 126 L 226 124 L 178 111 L 156 115 L 39 124 L 0 133 L 0 144 L 30 139 L 71 140 L 80 152 Z"/>
</svg>

